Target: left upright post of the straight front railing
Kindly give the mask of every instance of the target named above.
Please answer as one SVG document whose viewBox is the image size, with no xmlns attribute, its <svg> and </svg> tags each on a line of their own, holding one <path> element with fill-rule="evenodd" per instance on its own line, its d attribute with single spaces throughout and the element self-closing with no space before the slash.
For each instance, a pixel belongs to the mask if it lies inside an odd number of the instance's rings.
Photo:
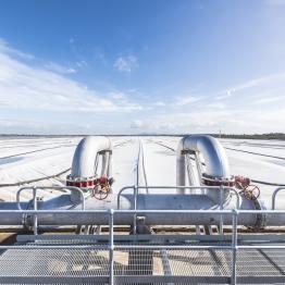
<svg viewBox="0 0 285 285">
<path fill-rule="evenodd" d="M 109 285 L 114 285 L 114 210 L 109 211 Z"/>
</svg>

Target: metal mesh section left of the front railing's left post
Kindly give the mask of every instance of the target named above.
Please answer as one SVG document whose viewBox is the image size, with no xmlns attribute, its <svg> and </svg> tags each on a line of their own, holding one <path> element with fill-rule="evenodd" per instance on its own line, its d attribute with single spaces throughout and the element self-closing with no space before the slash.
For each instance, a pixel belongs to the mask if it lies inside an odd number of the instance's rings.
<svg viewBox="0 0 285 285">
<path fill-rule="evenodd" d="M 108 250 L 9 249 L 0 259 L 0 276 L 108 275 Z"/>
</svg>

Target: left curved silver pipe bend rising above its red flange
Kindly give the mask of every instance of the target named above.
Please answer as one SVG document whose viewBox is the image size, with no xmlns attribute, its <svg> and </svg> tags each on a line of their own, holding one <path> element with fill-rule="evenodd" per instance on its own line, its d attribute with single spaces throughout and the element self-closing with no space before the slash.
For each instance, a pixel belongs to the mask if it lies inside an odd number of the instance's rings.
<svg viewBox="0 0 285 285">
<path fill-rule="evenodd" d="M 95 163 L 98 152 L 111 151 L 112 142 L 108 137 L 88 136 L 76 147 L 72 161 L 72 177 L 88 178 L 95 175 Z"/>
</svg>

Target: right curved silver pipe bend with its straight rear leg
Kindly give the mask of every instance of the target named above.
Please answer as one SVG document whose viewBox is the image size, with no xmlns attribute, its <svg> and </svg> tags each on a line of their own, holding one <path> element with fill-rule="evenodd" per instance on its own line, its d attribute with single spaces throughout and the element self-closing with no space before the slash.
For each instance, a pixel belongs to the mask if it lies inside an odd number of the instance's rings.
<svg viewBox="0 0 285 285">
<path fill-rule="evenodd" d="M 222 179 L 231 178 L 227 156 L 220 141 L 211 136 L 193 135 L 182 138 L 177 147 L 177 186 L 184 186 L 186 182 L 186 161 L 183 151 L 201 153 L 206 163 L 207 175 Z"/>
</svg>

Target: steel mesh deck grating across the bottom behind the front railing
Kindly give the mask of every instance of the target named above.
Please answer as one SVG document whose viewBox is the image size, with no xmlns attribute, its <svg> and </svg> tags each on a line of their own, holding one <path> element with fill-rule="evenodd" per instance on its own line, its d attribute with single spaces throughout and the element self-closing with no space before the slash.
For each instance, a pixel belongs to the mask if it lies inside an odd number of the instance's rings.
<svg viewBox="0 0 285 285">
<path fill-rule="evenodd" d="M 200 243 L 201 244 L 201 243 Z M 16 244 L 20 245 L 20 244 Z M 88 277 L 109 277 L 109 250 L 108 243 L 95 244 L 80 240 L 40 240 L 26 245 L 67 245 L 70 249 L 8 249 L 0 251 L 0 283 L 1 284 L 46 284 L 45 278 L 53 278 L 52 284 L 71 284 L 64 282 L 64 277 L 74 277 L 78 283 L 73 284 L 108 284 L 95 282 L 88 283 Z M 76 249 L 74 245 L 94 245 L 96 249 Z M 162 245 L 159 243 L 116 243 L 115 245 Z M 165 243 L 163 245 L 166 245 Z M 174 244 L 169 244 L 172 246 Z M 177 244 L 175 244 L 177 245 Z M 181 244 L 179 244 L 181 245 Z M 184 244 L 185 245 L 185 244 Z M 188 244 L 189 245 L 189 244 Z M 194 243 L 194 245 L 197 245 Z M 209 245 L 202 243 L 202 245 Z M 211 245 L 230 245 L 211 243 Z M 106 247 L 106 248 L 103 248 Z M 188 284 L 210 284 L 211 278 L 230 278 L 232 274 L 232 250 L 206 250 L 206 249 L 115 249 L 114 275 L 121 277 L 119 284 L 129 283 L 123 277 L 148 276 L 147 283 L 139 284 L 187 284 L 178 277 L 209 277 L 208 283 L 195 282 Z M 153 277 L 153 281 L 152 277 Z M 177 277 L 174 282 L 158 282 L 154 277 Z M 285 284 L 285 249 L 239 249 L 237 251 L 237 276 L 247 280 L 251 284 L 252 277 L 262 280 L 252 284 Z M 1 282 L 4 277 L 13 277 L 14 281 Z M 25 277 L 36 277 L 35 283 L 25 283 Z M 39 282 L 42 277 L 42 282 Z M 76 278 L 77 277 L 77 278 Z M 275 283 L 267 282 L 267 278 L 276 278 Z M 62 278 L 62 281 L 61 281 Z M 82 280 L 80 280 L 82 278 Z M 284 278 L 284 282 L 283 282 Z M 282 282 L 280 282 L 282 280 Z M 57 283 L 58 281 L 59 283 Z M 222 281 L 222 280 L 221 280 Z M 12 283 L 11 283 L 12 282 Z M 50 283 L 49 283 L 50 284 Z M 212 284 L 228 284 L 216 282 Z"/>
</svg>

